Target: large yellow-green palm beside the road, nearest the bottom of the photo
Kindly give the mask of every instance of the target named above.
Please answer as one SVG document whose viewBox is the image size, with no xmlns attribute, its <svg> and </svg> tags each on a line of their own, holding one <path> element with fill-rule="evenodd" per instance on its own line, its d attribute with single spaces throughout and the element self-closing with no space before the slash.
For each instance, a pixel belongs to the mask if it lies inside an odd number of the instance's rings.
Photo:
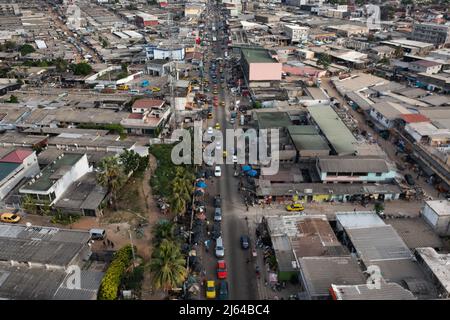
<svg viewBox="0 0 450 320">
<path fill-rule="evenodd" d="M 164 239 L 150 261 L 150 271 L 156 289 L 168 291 L 179 287 L 187 276 L 186 260 L 180 248 Z"/>
</svg>

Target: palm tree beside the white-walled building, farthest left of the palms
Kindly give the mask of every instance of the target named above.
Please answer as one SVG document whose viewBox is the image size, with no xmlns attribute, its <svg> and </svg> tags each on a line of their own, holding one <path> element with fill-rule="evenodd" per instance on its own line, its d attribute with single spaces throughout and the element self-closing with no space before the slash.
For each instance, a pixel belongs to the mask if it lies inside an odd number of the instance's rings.
<svg viewBox="0 0 450 320">
<path fill-rule="evenodd" d="M 111 204 L 117 209 L 117 192 L 126 181 L 126 175 L 119 165 L 116 157 L 104 158 L 99 165 L 100 172 L 97 173 L 97 181 L 108 189 L 111 194 Z"/>
</svg>

